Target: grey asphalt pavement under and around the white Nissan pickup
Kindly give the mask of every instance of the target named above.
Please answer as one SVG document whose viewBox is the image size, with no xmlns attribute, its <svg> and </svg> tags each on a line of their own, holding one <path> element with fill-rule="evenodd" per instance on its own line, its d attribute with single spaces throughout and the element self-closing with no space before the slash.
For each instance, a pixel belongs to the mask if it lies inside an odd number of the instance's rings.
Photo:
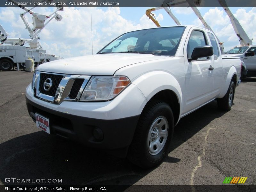
<svg viewBox="0 0 256 192">
<path fill-rule="evenodd" d="M 248 177 L 244 185 L 256 184 L 255 77 L 236 88 L 230 111 L 220 111 L 213 101 L 182 118 L 168 157 L 144 170 L 40 131 L 25 102 L 32 76 L 0 72 L 0 185 L 13 185 L 5 181 L 10 177 L 62 180 L 49 185 L 222 185 L 226 177 Z"/>
</svg>

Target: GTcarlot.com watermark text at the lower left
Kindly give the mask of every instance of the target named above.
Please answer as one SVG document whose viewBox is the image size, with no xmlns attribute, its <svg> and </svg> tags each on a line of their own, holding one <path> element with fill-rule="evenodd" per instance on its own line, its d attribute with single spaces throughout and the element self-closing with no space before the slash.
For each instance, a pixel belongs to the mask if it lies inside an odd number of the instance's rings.
<svg viewBox="0 0 256 192">
<path fill-rule="evenodd" d="M 16 177 L 6 177 L 6 183 L 62 183 L 62 179 L 20 179 Z"/>
</svg>

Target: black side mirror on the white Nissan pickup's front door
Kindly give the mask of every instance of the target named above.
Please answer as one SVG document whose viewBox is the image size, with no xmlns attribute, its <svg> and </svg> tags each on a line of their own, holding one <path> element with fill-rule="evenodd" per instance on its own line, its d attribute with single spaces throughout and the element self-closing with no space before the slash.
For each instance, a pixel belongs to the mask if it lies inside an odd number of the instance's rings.
<svg viewBox="0 0 256 192">
<path fill-rule="evenodd" d="M 188 61 L 197 60 L 198 58 L 202 58 L 202 57 L 210 57 L 212 55 L 213 55 L 212 46 L 209 46 L 209 45 L 198 46 L 194 48 L 191 58 L 189 58 Z"/>
</svg>

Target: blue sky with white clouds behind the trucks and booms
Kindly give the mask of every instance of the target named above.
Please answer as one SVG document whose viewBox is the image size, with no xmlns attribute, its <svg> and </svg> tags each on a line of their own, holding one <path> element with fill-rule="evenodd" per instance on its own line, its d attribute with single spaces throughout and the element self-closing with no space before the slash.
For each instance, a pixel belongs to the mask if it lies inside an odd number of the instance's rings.
<svg viewBox="0 0 256 192">
<path fill-rule="evenodd" d="M 156 27 L 145 15 L 149 8 L 152 7 L 93 7 L 92 36 L 91 9 L 86 7 L 64 8 L 63 12 L 58 12 L 63 16 L 63 19 L 61 21 L 52 20 L 40 34 L 40 42 L 48 54 L 59 55 L 59 49 L 61 49 L 61 57 L 67 58 L 92 54 L 93 39 L 93 53 L 96 53 L 101 47 L 124 32 Z M 48 15 L 54 9 L 38 7 L 34 11 Z M 199 7 L 199 10 L 220 41 L 224 42 L 224 51 L 239 45 L 230 20 L 222 7 Z M 256 40 L 256 8 L 230 7 L 230 10 L 239 20 L 248 36 Z M 28 31 L 19 16 L 21 12 L 23 10 L 18 7 L 0 8 L 0 23 L 9 33 L 9 37 L 29 38 Z M 182 25 L 203 27 L 189 7 L 172 8 L 172 12 Z M 176 25 L 163 9 L 155 11 L 154 14 L 161 26 Z M 31 24 L 32 20 L 29 14 L 27 14 L 27 19 L 28 23 Z M 255 44 L 255 41 L 253 43 Z"/>
</svg>

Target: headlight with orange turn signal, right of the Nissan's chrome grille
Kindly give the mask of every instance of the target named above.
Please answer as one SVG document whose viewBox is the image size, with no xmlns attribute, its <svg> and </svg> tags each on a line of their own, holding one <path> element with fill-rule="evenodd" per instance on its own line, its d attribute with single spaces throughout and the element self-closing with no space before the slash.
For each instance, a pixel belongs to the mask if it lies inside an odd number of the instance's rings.
<svg viewBox="0 0 256 192">
<path fill-rule="evenodd" d="M 130 84 L 125 76 L 92 76 L 80 101 L 111 100 Z"/>
</svg>

